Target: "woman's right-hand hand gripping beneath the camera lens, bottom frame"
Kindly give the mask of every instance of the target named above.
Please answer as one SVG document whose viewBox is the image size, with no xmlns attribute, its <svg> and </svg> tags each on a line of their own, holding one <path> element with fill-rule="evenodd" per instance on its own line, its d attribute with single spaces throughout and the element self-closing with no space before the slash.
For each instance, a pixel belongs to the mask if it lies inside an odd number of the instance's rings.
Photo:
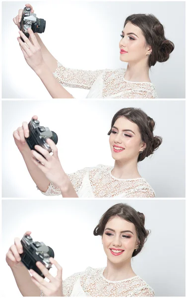
<svg viewBox="0 0 187 298">
<path fill-rule="evenodd" d="M 49 282 L 45 281 L 43 277 L 32 269 L 29 270 L 32 275 L 31 280 L 45 296 L 62 297 L 62 267 L 52 257 L 50 258 L 50 262 L 57 268 L 56 277 L 53 277 L 41 262 L 36 262 L 36 266 L 40 269 L 43 275 L 49 279 Z"/>
</svg>

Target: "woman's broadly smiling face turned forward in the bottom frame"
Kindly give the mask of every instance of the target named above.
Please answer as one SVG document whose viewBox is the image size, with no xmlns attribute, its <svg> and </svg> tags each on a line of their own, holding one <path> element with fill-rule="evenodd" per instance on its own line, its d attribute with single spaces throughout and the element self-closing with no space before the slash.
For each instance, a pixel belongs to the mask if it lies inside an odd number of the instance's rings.
<svg viewBox="0 0 187 298">
<path fill-rule="evenodd" d="M 134 224 L 118 216 L 106 224 L 102 241 L 108 260 L 114 264 L 130 262 L 139 244 Z"/>
</svg>

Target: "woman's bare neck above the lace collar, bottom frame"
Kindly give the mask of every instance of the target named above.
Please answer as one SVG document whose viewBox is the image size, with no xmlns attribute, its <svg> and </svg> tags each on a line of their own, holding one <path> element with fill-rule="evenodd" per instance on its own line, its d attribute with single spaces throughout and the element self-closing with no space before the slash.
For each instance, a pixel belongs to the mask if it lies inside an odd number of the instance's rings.
<svg viewBox="0 0 187 298">
<path fill-rule="evenodd" d="M 103 276 L 109 281 L 123 281 L 136 276 L 136 274 L 132 270 L 130 260 L 126 260 L 123 264 L 114 264 L 107 260 Z"/>
</svg>

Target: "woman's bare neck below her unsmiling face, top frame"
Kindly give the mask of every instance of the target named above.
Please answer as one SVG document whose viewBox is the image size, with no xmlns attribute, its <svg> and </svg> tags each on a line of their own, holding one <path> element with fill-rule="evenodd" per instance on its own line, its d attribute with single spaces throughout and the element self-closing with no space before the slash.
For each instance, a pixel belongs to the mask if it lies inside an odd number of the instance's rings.
<svg viewBox="0 0 187 298">
<path fill-rule="evenodd" d="M 124 78 L 132 82 L 150 82 L 147 60 L 146 64 L 142 61 L 128 63 Z"/>
</svg>

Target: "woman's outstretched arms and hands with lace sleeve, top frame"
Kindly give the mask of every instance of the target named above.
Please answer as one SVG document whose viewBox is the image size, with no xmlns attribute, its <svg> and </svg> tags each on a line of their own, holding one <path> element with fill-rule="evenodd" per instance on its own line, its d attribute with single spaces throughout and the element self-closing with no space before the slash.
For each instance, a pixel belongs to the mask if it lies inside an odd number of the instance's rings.
<svg viewBox="0 0 187 298">
<path fill-rule="evenodd" d="M 26 4 L 26 6 L 31 7 L 31 12 L 34 12 L 32 5 Z M 18 28 L 22 11 L 23 9 L 19 9 L 18 15 L 13 18 Z M 33 33 L 31 29 L 28 33 L 29 39 L 19 31 L 20 37 L 25 41 L 24 43 L 18 37 L 21 51 L 27 64 L 40 77 L 53 98 L 73 98 L 62 85 L 90 89 L 97 77 L 103 73 L 103 70 L 85 71 L 65 68 L 53 57 L 37 33 Z"/>
</svg>

